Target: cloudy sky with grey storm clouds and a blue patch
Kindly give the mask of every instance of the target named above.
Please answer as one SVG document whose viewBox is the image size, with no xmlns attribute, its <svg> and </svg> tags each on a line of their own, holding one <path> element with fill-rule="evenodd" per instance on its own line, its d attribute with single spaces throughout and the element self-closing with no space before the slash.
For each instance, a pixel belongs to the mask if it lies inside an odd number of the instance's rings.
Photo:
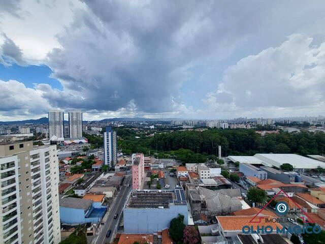
<svg viewBox="0 0 325 244">
<path fill-rule="evenodd" d="M 325 2 L 0 0 L 0 120 L 325 115 Z"/>
</svg>

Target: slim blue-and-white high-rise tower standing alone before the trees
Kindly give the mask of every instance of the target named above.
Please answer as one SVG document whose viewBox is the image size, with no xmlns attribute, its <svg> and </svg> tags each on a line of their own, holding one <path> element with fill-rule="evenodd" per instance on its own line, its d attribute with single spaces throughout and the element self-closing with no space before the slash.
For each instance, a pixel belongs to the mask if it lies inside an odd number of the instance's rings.
<svg viewBox="0 0 325 244">
<path fill-rule="evenodd" d="M 117 136 L 116 131 L 111 127 L 106 127 L 104 132 L 104 164 L 110 168 L 115 168 L 117 163 Z"/>
</svg>

